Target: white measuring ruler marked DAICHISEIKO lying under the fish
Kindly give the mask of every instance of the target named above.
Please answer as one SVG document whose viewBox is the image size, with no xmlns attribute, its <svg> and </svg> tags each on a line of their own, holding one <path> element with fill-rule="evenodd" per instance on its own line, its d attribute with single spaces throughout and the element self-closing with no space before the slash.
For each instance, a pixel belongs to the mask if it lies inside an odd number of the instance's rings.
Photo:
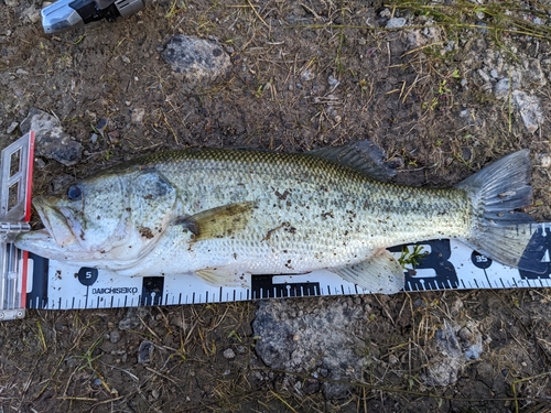
<svg viewBox="0 0 551 413">
<path fill-rule="evenodd" d="M 23 188 L 21 197 L 15 203 L 19 209 L 24 207 L 18 213 L 22 218 L 10 224 L 12 227 L 7 229 L 8 232 L 28 230 L 28 224 L 24 222 L 29 220 L 26 215 L 30 211 L 28 195 L 30 195 L 32 175 L 30 160 L 32 160 L 34 138 L 25 135 L 18 142 L 15 142 L 18 145 L 14 143 L 2 151 L 2 171 L 7 171 L 3 167 L 4 162 L 13 159 L 14 151 L 21 152 L 19 155 L 21 167 L 18 172 L 14 175 L 2 175 L 10 178 L 17 176 L 19 187 Z M 24 165 L 25 162 L 29 165 Z M 28 169 L 26 173 L 23 172 L 24 167 Z M 11 171 L 10 167 L 8 170 Z M 3 181 L 1 185 L 3 194 L 6 193 Z M 8 182 L 8 189 L 12 186 L 13 180 Z M 17 215 L 10 214 L 10 217 Z M 0 227 L 3 225 L 2 219 L 0 218 Z M 20 227 L 17 227 L 18 225 Z M 417 246 L 392 247 L 389 250 L 396 258 L 403 257 L 406 249 L 421 251 L 415 268 L 404 271 L 404 291 L 549 287 L 551 286 L 551 222 L 534 225 L 534 233 L 544 244 L 538 249 L 541 250 L 541 257 L 537 258 L 547 263 L 547 271 L 543 274 L 499 264 L 455 240 L 431 240 Z M 2 262 L 8 262 L 8 267 L 3 267 L 0 286 L 3 297 L 0 317 L 3 319 L 23 317 L 25 308 L 115 308 L 369 293 L 325 270 L 296 275 L 249 275 L 245 280 L 248 287 L 213 286 L 191 274 L 122 276 L 116 272 L 80 268 L 32 253 L 26 254 L 14 248 L 9 242 L 8 236 L 4 240 L 8 242 L 3 242 L 0 248 L 0 253 L 3 253 Z"/>
</svg>

